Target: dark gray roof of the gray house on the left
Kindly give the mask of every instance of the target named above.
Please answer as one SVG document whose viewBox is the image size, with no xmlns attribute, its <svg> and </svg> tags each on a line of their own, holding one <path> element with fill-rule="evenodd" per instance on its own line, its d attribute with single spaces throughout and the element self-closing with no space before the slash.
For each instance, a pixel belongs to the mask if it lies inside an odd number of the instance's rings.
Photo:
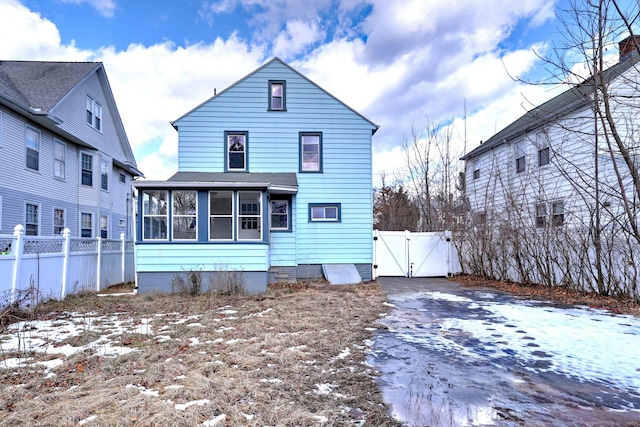
<svg viewBox="0 0 640 427">
<path fill-rule="evenodd" d="M 60 128 L 62 120 L 54 113 L 55 108 L 94 73 L 100 79 L 126 157 L 114 162 L 131 174 L 142 176 L 101 62 L 0 61 L 0 103 L 75 144 L 95 150 L 87 141 Z"/>
</svg>

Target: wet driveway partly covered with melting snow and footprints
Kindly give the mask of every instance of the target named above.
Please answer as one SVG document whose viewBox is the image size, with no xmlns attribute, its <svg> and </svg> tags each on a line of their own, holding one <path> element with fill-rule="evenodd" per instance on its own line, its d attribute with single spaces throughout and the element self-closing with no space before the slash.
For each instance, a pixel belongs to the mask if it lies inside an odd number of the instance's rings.
<svg viewBox="0 0 640 427">
<path fill-rule="evenodd" d="M 378 278 L 370 362 L 409 426 L 640 426 L 640 319 L 433 278 Z"/>
</svg>

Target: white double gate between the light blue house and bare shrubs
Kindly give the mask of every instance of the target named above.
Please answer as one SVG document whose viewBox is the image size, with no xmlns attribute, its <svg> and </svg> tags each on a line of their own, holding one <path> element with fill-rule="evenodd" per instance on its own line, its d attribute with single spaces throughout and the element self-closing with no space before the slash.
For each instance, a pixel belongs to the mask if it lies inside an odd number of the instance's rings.
<svg viewBox="0 0 640 427">
<path fill-rule="evenodd" d="M 451 232 L 373 233 L 373 276 L 441 277 L 460 272 Z"/>
</svg>

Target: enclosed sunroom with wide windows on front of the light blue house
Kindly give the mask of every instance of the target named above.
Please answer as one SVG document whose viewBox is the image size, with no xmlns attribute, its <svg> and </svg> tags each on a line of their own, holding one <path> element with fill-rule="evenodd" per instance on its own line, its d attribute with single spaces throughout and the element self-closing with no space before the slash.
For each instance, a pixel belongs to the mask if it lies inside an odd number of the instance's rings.
<svg viewBox="0 0 640 427">
<path fill-rule="evenodd" d="M 271 231 L 293 229 L 295 173 L 178 172 L 135 187 L 141 292 L 169 292 L 177 274 L 192 270 L 241 272 L 248 291 L 266 290 Z"/>
</svg>

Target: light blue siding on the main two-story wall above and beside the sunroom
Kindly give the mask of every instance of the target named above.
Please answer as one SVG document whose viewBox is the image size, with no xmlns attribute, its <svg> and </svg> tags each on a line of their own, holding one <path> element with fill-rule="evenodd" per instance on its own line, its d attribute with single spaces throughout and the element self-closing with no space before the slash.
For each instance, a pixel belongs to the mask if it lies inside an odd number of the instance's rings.
<svg viewBox="0 0 640 427">
<path fill-rule="evenodd" d="M 286 81 L 286 112 L 268 111 L 268 81 Z M 293 232 L 271 233 L 274 266 L 371 263 L 375 126 L 274 60 L 175 121 L 179 170 L 223 172 L 225 131 L 246 130 L 250 172 L 294 172 Z M 322 133 L 322 173 L 299 173 L 300 132 Z M 310 223 L 309 203 L 340 203 L 340 223 Z"/>
</svg>

